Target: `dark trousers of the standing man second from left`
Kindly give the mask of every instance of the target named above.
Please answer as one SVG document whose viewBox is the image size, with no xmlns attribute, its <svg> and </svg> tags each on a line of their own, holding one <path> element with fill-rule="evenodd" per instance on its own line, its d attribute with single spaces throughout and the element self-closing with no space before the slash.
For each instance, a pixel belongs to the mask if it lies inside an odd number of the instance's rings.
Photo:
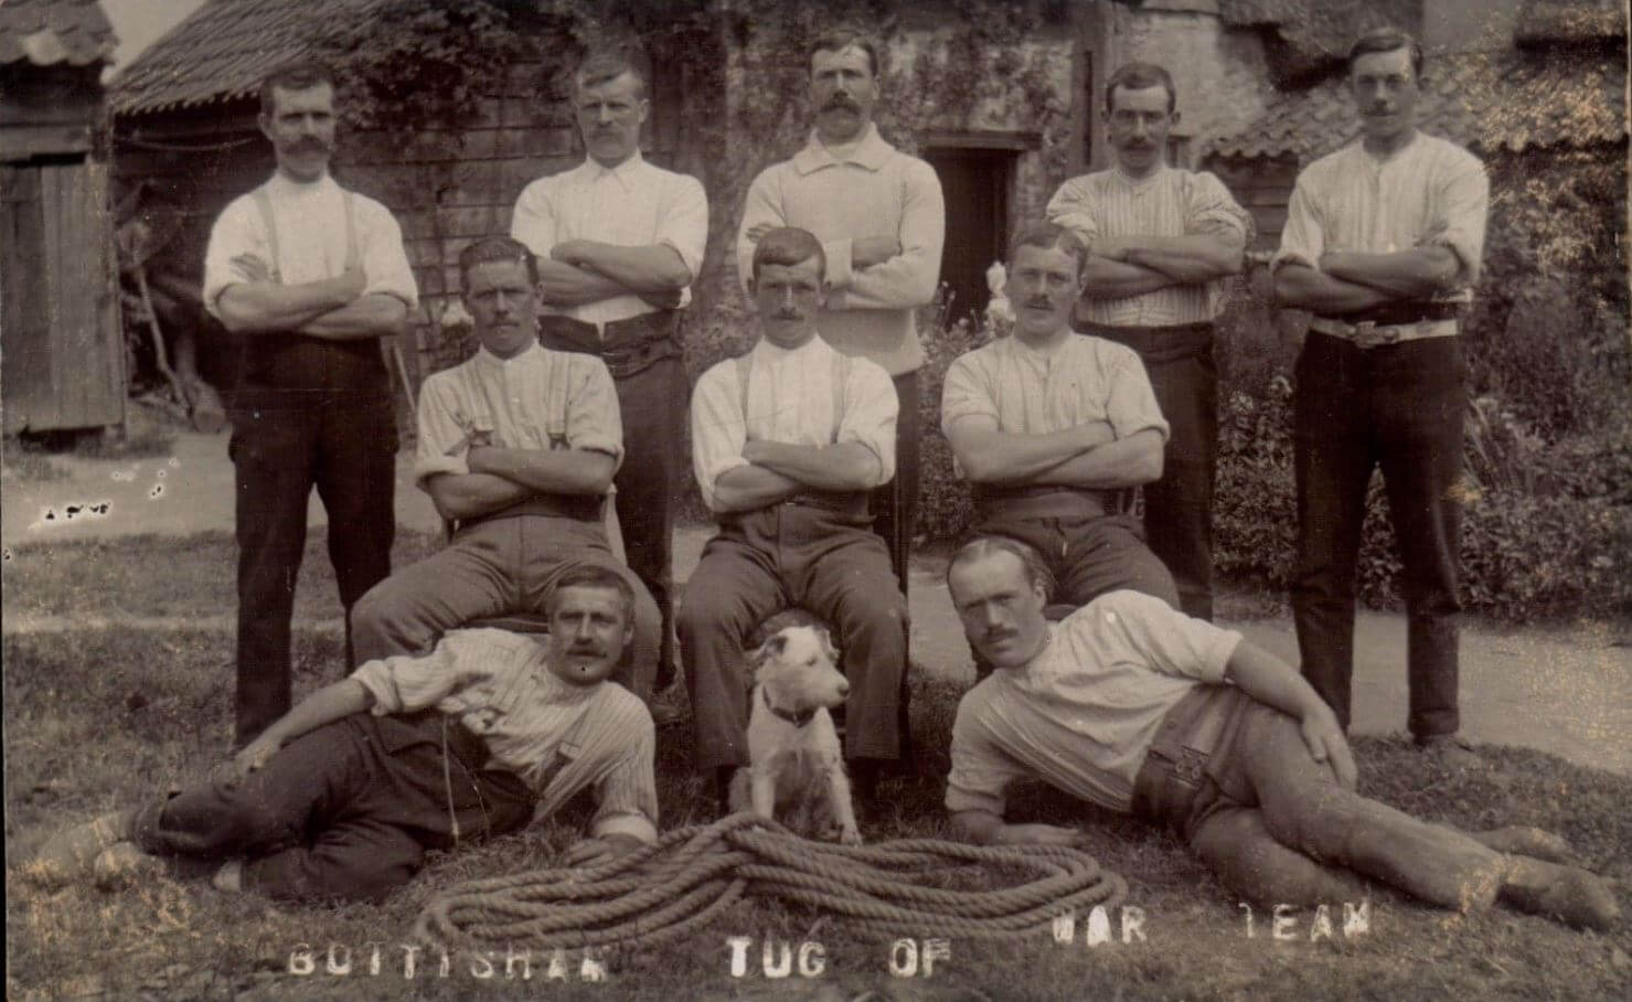
<svg viewBox="0 0 1632 1002">
<path fill-rule="evenodd" d="M 617 493 L 623 560 L 658 604 L 658 677 L 674 664 L 674 491 L 681 477 L 681 439 L 690 385 L 672 339 L 677 320 L 646 315 L 609 325 L 605 339 L 592 325 L 545 317 L 540 341 L 555 351 L 601 356 L 617 387 L 623 421 L 623 465 Z M 625 361 L 627 359 L 627 361 Z"/>
</svg>

